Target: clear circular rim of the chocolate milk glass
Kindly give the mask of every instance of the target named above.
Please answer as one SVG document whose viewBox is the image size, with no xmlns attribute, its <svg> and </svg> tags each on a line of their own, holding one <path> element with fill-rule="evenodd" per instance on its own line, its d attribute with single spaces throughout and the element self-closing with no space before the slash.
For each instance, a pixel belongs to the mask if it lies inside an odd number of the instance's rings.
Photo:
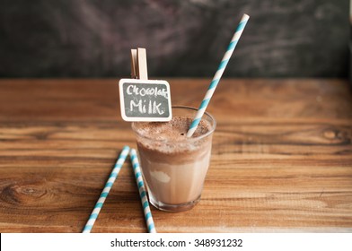
<svg viewBox="0 0 352 251">
<path fill-rule="evenodd" d="M 195 112 L 198 111 L 198 108 L 192 108 L 192 107 L 188 107 L 188 106 L 172 106 L 172 108 L 180 108 L 180 109 L 189 109 L 189 110 L 193 110 Z M 213 134 L 214 131 L 216 130 L 216 118 L 214 116 L 212 116 L 210 113 L 208 113 L 207 111 L 204 112 L 203 116 L 204 115 L 207 115 L 207 117 L 210 117 L 211 121 L 213 122 L 213 125 L 211 125 L 211 128 L 210 130 L 206 133 L 206 134 L 201 134 L 199 135 L 198 137 L 186 137 L 185 140 L 182 140 L 182 141 L 178 141 L 178 142 L 175 142 L 175 143 L 185 143 L 185 142 L 194 142 L 194 141 L 198 141 L 198 140 L 201 140 L 203 138 L 206 138 L 208 135 L 210 134 Z M 202 117 L 203 117 L 202 116 Z M 148 137 L 148 136 L 145 136 L 145 135 L 142 135 L 142 134 L 139 134 L 137 131 L 136 131 L 136 124 L 138 123 L 150 123 L 150 122 L 144 122 L 144 121 L 139 121 L 139 122 L 132 122 L 132 131 L 138 135 L 139 137 L 141 138 L 145 138 L 145 139 L 148 139 L 148 140 L 153 140 L 155 142 L 167 142 L 168 140 L 157 140 L 157 139 L 154 139 L 153 137 Z M 156 122 L 156 123 L 159 123 L 159 122 Z M 160 122 L 160 123 L 163 123 L 163 122 Z"/>
</svg>

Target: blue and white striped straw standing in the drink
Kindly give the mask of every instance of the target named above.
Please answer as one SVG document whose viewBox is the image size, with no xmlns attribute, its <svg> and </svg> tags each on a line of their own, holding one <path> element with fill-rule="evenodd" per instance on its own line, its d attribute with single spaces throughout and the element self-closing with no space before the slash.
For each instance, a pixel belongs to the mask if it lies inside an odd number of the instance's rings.
<svg viewBox="0 0 352 251">
<path fill-rule="evenodd" d="M 206 96 L 204 97 L 203 101 L 201 102 L 196 117 L 194 117 L 192 123 L 189 126 L 189 131 L 187 132 L 187 136 L 191 137 L 194 132 L 197 129 L 197 126 L 200 122 L 200 119 L 203 117 L 204 112 L 207 109 L 207 105 L 211 99 L 211 97 L 214 94 L 214 91 L 216 91 L 216 86 L 219 83 L 221 76 L 224 74 L 224 68 L 226 67 L 227 63 L 230 60 L 230 57 L 233 55 L 233 50 L 236 48 L 238 40 L 241 38 L 242 31 L 244 30 L 244 27 L 246 26 L 248 20 L 250 19 L 250 16 L 247 14 L 243 14 L 241 22 L 238 24 L 236 31 L 233 34 L 233 39 L 231 39 L 231 42 L 224 54 L 223 60 L 221 60 L 221 63 L 219 67 L 217 68 L 216 74 L 214 75 L 214 78 L 212 82 L 210 82 L 209 87 L 207 88 L 207 93 Z"/>
</svg>

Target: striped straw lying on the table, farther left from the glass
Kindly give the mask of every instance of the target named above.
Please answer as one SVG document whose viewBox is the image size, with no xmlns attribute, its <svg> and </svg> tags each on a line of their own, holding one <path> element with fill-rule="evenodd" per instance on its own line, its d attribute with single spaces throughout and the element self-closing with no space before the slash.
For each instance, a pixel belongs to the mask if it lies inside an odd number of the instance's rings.
<svg viewBox="0 0 352 251">
<path fill-rule="evenodd" d="M 111 171 L 110 177 L 106 182 L 104 189 L 101 192 L 101 196 L 99 197 L 97 203 L 95 203 L 91 216 L 89 217 L 89 220 L 85 224 L 83 233 L 91 232 L 92 226 L 97 220 L 99 212 L 101 212 L 101 207 L 104 204 L 106 197 L 109 195 L 111 186 L 114 184 L 116 177 L 118 177 L 119 175 L 119 170 L 122 168 L 123 163 L 128 157 L 128 151 L 129 151 L 129 147 L 126 145 L 123 147 L 121 153 L 119 154 L 119 159 L 116 161 L 115 167 Z"/>
</svg>

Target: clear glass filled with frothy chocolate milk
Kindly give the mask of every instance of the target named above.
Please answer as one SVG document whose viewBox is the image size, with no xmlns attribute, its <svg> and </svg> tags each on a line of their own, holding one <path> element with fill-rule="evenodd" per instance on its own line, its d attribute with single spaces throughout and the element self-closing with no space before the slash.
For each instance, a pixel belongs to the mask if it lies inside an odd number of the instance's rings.
<svg viewBox="0 0 352 251">
<path fill-rule="evenodd" d="M 132 124 L 149 200 L 161 210 L 188 210 L 200 199 L 216 121 L 206 113 L 188 138 L 196 112 L 194 108 L 174 107 L 170 122 Z"/>
</svg>

